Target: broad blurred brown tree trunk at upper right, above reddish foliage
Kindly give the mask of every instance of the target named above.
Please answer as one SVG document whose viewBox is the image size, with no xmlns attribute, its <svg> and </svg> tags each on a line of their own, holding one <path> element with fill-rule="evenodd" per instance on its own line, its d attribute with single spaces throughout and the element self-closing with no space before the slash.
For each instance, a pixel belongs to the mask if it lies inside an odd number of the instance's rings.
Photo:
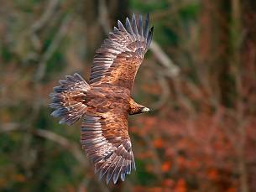
<svg viewBox="0 0 256 192">
<path fill-rule="evenodd" d="M 230 0 L 201 1 L 201 76 L 207 78 L 201 82 L 209 94 L 227 107 L 234 106 L 237 95 L 229 58 L 230 13 Z"/>
</svg>

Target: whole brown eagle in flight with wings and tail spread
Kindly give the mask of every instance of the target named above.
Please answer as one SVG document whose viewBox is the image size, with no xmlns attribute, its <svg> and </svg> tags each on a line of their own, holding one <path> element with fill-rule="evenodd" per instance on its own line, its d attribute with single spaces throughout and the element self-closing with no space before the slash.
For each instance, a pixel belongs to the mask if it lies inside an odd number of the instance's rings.
<svg viewBox="0 0 256 192">
<path fill-rule="evenodd" d="M 124 27 L 125 26 L 125 27 Z M 108 34 L 94 56 L 89 83 L 81 75 L 66 75 L 50 94 L 50 107 L 60 123 L 71 125 L 82 119 L 81 145 L 107 184 L 135 169 L 128 115 L 149 112 L 131 97 L 135 75 L 153 35 L 149 14 L 141 15 Z"/>
</svg>

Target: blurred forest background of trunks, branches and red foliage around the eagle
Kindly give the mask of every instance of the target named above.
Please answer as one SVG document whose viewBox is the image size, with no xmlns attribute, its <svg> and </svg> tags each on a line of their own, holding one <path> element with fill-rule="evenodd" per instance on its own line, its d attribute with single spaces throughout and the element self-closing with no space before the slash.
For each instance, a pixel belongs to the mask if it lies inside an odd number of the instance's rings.
<svg viewBox="0 0 256 192">
<path fill-rule="evenodd" d="M 132 13 L 154 42 L 129 117 L 137 171 L 98 181 L 80 123 L 50 117 L 64 75 L 89 79 L 95 49 Z M 2 0 L 1 191 L 256 191 L 256 1 Z"/>
</svg>

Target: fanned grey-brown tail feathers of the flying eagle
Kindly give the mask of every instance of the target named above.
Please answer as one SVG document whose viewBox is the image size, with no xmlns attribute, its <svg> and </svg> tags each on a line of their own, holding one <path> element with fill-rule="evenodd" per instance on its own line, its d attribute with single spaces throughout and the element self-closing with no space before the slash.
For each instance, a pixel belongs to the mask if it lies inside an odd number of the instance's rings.
<svg viewBox="0 0 256 192">
<path fill-rule="evenodd" d="M 55 86 L 50 94 L 50 107 L 55 111 L 53 117 L 62 117 L 60 123 L 71 125 L 79 120 L 86 112 L 86 91 L 90 86 L 81 75 L 67 75 L 65 80 L 60 80 L 60 86 Z"/>
</svg>

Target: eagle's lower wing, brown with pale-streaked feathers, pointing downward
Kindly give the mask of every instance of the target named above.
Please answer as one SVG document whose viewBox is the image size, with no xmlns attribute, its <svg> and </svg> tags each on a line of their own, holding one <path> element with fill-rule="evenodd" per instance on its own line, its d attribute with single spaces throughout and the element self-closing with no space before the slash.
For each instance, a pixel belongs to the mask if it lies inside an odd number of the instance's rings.
<svg viewBox="0 0 256 192">
<path fill-rule="evenodd" d="M 112 109 L 104 118 L 86 115 L 81 124 L 81 144 L 95 163 L 99 178 L 114 184 L 135 169 L 132 144 L 128 136 L 128 114 L 122 108 Z"/>
</svg>

